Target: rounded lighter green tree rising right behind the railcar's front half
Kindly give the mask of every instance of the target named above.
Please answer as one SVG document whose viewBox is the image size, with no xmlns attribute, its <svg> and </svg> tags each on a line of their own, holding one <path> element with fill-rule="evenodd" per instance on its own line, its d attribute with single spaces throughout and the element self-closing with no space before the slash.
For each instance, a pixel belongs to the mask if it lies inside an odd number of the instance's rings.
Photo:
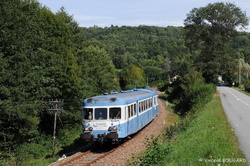
<svg viewBox="0 0 250 166">
<path fill-rule="evenodd" d="M 84 97 L 119 90 L 118 77 L 104 45 L 97 41 L 84 42 L 77 54 L 81 67 Z"/>
</svg>

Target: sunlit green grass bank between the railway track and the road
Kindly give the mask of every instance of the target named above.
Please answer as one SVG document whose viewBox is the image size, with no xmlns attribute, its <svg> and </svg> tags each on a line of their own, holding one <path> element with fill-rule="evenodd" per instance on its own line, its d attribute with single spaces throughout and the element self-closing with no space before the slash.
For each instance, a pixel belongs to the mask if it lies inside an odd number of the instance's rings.
<svg viewBox="0 0 250 166">
<path fill-rule="evenodd" d="M 134 158 L 130 165 L 143 165 L 157 158 L 162 161 L 150 165 L 247 165 L 245 156 L 239 149 L 237 137 L 227 121 L 219 96 L 215 96 L 191 117 L 192 120 L 188 120 L 184 130 L 176 129 L 170 139 L 165 138 L 157 145 L 149 147 L 150 153 L 156 154 L 153 158 L 144 152 L 137 155 L 142 162 L 136 164 L 133 162 L 136 160 Z M 173 117 L 169 120 L 173 121 Z M 153 148 L 155 150 L 152 151 Z"/>
</svg>

